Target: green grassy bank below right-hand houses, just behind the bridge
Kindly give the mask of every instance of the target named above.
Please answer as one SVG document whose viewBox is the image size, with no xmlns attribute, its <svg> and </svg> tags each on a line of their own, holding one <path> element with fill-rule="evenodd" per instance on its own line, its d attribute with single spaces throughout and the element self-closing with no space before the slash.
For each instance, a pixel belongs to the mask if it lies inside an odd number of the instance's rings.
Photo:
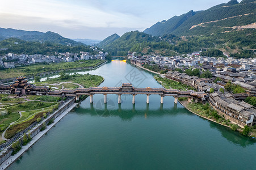
<svg viewBox="0 0 256 170">
<path fill-rule="evenodd" d="M 174 80 L 171 79 L 167 79 L 167 78 L 162 78 L 159 75 L 155 75 L 154 78 L 160 83 L 162 84 L 163 87 L 165 87 L 166 89 L 178 89 L 178 90 L 194 90 L 196 91 L 196 89 L 194 87 L 188 86 L 187 84 L 183 84 L 181 82 L 175 82 Z"/>
</svg>

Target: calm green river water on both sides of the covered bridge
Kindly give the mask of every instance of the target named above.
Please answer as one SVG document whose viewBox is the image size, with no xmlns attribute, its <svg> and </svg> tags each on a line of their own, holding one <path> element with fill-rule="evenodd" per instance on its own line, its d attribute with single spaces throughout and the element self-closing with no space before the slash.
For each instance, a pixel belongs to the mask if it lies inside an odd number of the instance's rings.
<svg viewBox="0 0 256 170">
<path fill-rule="evenodd" d="M 79 72 L 100 87 L 161 87 L 152 73 L 125 62 Z M 171 96 L 94 95 L 67 114 L 9 169 L 255 169 L 253 139 L 192 114 Z"/>
</svg>

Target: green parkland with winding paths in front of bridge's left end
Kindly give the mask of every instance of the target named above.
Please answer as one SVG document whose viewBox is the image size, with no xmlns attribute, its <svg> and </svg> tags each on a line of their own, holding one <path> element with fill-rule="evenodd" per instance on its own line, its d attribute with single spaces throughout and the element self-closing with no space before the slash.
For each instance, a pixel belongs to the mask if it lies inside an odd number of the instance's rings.
<svg viewBox="0 0 256 170">
<path fill-rule="evenodd" d="M 10 130 L 7 129 L 5 137 L 11 138 L 21 130 L 26 129 L 29 125 L 36 121 L 37 117 L 42 117 L 45 113 L 52 112 L 58 108 L 58 101 L 61 97 L 53 96 L 26 96 L 14 98 L 14 95 L 0 94 L 0 102 L 2 107 L 0 111 L 8 111 L 6 115 L 0 116 L 0 134 L 12 122 Z M 4 101 L 2 101 L 4 99 Z M 19 112 L 22 116 L 20 117 Z M 0 140 L 0 143 L 2 141 Z"/>
</svg>

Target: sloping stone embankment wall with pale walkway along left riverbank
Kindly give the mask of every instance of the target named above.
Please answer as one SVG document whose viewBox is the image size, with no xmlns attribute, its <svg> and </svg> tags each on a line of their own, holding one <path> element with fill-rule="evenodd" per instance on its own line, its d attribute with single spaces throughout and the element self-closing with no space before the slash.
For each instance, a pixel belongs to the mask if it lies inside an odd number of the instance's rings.
<svg viewBox="0 0 256 170">
<path fill-rule="evenodd" d="M 31 141 L 28 142 L 26 146 L 22 146 L 22 149 L 17 152 L 15 155 L 11 155 L 13 150 L 11 145 L 7 146 L 1 151 L 0 155 L 0 169 L 5 169 L 11 165 L 11 163 L 15 162 L 16 159 L 19 159 L 20 156 L 24 154 L 38 139 L 40 139 L 48 130 L 50 130 L 58 121 L 60 121 L 66 114 L 68 114 L 74 107 L 76 107 L 79 103 L 75 103 L 75 97 L 64 103 L 57 111 L 54 111 L 47 118 L 41 121 L 39 124 L 35 125 L 30 131 L 26 134 L 31 134 Z M 51 125 L 48 125 L 49 121 L 54 120 Z M 44 130 L 41 130 L 43 126 Z M 18 138 L 15 142 L 19 141 L 23 143 L 23 135 Z"/>
</svg>

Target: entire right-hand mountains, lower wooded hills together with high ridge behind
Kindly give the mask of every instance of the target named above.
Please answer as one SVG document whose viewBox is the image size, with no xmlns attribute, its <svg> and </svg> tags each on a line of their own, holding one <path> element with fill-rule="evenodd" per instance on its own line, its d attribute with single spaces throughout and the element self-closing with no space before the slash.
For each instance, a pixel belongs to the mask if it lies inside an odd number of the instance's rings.
<svg viewBox="0 0 256 170">
<path fill-rule="evenodd" d="M 98 46 L 113 56 L 127 52 L 165 56 L 212 48 L 226 53 L 242 53 L 256 48 L 256 1 L 231 0 L 205 11 L 189 11 L 158 22 L 144 32 L 114 34 Z M 246 56 L 247 57 L 247 56 Z"/>
</svg>

